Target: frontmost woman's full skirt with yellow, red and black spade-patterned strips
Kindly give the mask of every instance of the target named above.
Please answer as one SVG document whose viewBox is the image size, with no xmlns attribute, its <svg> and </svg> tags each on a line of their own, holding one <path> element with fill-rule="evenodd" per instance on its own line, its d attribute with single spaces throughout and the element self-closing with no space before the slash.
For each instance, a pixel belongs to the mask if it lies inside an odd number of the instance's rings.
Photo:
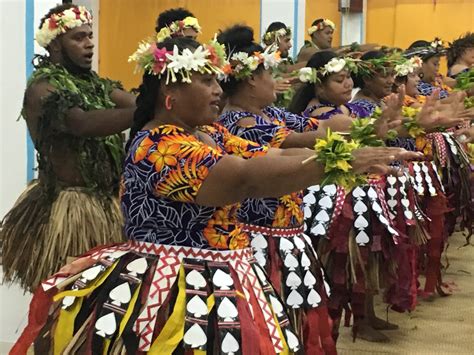
<svg viewBox="0 0 474 355">
<path fill-rule="evenodd" d="M 279 354 L 301 348 L 250 248 L 131 241 L 97 248 L 43 282 L 12 351 Z"/>
</svg>

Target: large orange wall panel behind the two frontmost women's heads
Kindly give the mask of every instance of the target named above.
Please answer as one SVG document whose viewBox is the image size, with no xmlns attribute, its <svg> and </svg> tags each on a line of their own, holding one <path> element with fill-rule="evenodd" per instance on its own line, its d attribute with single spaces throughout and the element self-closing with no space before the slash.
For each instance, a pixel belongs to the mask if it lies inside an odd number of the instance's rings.
<svg viewBox="0 0 474 355">
<path fill-rule="evenodd" d="M 175 7 L 188 8 L 199 19 L 200 41 L 236 22 L 251 26 L 255 38 L 260 38 L 260 0 L 101 0 L 100 75 L 120 80 L 128 89 L 137 87 L 141 76 L 133 74 L 128 56 L 140 40 L 154 33 L 158 14 Z"/>
</svg>

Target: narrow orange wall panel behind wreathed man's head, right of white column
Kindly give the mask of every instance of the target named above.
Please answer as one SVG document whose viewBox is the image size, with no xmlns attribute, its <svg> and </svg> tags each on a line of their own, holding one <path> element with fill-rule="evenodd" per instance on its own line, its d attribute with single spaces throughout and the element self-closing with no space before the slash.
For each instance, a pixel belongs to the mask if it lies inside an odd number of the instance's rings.
<svg viewBox="0 0 474 355">
<path fill-rule="evenodd" d="M 305 39 L 309 39 L 308 28 L 314 20 L 327 18 L 336 24 L 336 32 L 333 37 L 333 46 L 341 43 L 341 14 L 338 11 L 338 0 L 306 0 Z"/>
</svg>

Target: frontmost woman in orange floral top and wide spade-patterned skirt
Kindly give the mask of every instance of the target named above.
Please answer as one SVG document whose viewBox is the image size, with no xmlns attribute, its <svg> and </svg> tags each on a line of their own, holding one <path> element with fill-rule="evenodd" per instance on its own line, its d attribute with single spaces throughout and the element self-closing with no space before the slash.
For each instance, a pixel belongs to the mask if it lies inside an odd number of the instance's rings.
<svg viewBox="0 0 474 355">
<path fill-rule="evenodd" d="M 13 353 L 31 343 L 38 353 L 298 351 L 233 213 L 247 197 L 320 181 L 324 167 L 302 164 L 311 151 L 268 149 L 213 125 L 219 53 L 176 38 L 132 56 L 145 74 L 121 186 L 130 240 L 92 250 L 46 280 Z M 352 155 L 355 173 L 387 172 L 391 160 L 416 156 L 398 148 Z"/>
</svg>

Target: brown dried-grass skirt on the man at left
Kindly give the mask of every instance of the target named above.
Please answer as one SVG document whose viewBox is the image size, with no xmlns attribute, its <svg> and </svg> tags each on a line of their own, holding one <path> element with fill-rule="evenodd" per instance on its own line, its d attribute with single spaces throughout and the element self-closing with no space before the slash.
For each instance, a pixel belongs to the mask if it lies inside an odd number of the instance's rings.
<svg viewBox="0 0 474 355">
<path fill-rule="evenodd" d="M 34 290 L 67 257 L 124 241 L 122 228 L 118 198 L 64 187 L 51 201 L 41 183 L 33 182 L 0 228 L 4 281 Z"/>
</svg>

